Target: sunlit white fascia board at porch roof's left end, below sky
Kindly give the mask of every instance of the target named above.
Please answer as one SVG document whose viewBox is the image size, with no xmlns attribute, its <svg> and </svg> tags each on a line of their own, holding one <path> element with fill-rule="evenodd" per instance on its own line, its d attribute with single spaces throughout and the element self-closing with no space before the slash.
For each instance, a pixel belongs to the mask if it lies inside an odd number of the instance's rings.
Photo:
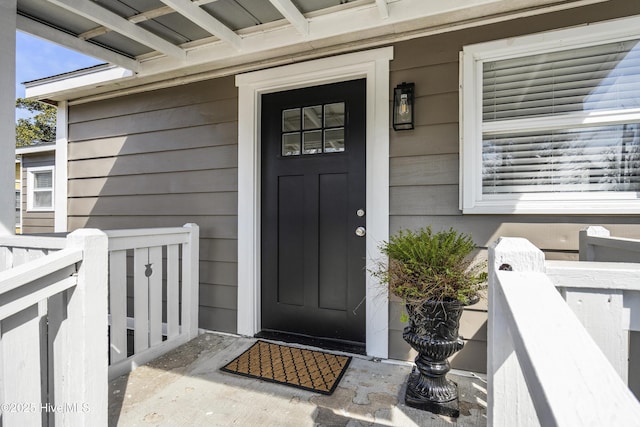
<svg viewBox="0 0 640 427">
<path fill-rule="evenodd" d="M 116 66 L 81 70 L 78 73 L 68 73 L 25 83 L 25 97 L 35 99 L 52 98 L 58 93 L 67 92 L 75 88 L 104 86 L 118 80 L 131 78 L 133 75 L 133 71 Z"/>
</svg>

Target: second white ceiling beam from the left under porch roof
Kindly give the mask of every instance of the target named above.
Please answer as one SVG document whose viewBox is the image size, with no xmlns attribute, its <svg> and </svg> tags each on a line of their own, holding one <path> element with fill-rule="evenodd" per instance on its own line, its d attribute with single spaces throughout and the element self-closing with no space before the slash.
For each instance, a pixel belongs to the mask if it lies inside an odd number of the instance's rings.
<svg viewBox="0 0 640 427">
<path fill-rule="evenodd" d="M 113 31 L 117 31 L 125 37 L 137 41 L 145 46 L 148 46 L 158 52 L 171 56 L 177 59 L 186 59 L 186 52 L 180 47 L 166 41 L 165 39 L 156 36 L 155 34 L 138 27 L 116 15 L 107 9 L 98 6 L 96 3 L 86 0 L 47 0 L 48 2 L 55 4 L 69 12 L 80 15 L 90 21 L 96 22 L 107 28 L 111 28 Z"/>
</svg>

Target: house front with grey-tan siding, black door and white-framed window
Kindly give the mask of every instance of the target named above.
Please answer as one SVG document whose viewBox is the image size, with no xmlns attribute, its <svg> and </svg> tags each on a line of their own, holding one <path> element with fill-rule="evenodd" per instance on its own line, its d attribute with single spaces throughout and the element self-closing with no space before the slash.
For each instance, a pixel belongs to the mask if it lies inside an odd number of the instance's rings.
<svg viewBox="0 0 640 427">
<path fill-rule="evenodd" d="M 203 8 L 223 3 L 242 2 Z M 186 59 L 121 40 L 143 59 L 137 76 L 99 66 L 28 83 L 59 103 L 68 230 L 197 223 L 201 328 L 401 360 L 402 304 L 368 268 L 390 232 L 453 226 L 481 248 L 520 236 L 550 259 L 574 259 L 590 224 L 640 237 L 640 2 L 322 3 L 333 9 L 283 12 L 293 25 L 273 8 L 255 31 L 225 21 L 241 37 L 212 25 L 213 41 L 167 16 L 191 31 Z M 402 82 L 415 128 L 395 131 Z M 486 310 L 465 312 L 454 367 L 485 371 Z"/>
</svg>

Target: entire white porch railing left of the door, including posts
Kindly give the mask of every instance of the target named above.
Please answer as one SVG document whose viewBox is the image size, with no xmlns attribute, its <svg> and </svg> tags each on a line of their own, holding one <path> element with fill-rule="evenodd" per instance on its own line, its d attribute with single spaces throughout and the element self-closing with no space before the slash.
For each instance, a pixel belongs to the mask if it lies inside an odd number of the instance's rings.
<svg viewBox="0 0 640 427">
<path fill-rule="evenodd" d="M 0 425 L 106 425 L 108 379 L 197 335 L 198 267 L 195 224 L 0 237 Z"/>
</svg>

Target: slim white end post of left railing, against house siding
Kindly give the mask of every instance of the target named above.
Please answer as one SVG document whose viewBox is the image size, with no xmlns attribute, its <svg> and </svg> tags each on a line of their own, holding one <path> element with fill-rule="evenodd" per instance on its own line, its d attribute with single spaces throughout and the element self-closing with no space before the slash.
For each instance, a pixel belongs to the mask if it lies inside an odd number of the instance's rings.
<svg viewBox="0 0 640 427">
<path fill-rule="evenodd" d="M 182 327 L 189 339 L 198 336 L 198 292 L 200 286 L 200 228 L 197 224 L 185 224 L 189 242 L 182 251 Z"/>
</svg>

